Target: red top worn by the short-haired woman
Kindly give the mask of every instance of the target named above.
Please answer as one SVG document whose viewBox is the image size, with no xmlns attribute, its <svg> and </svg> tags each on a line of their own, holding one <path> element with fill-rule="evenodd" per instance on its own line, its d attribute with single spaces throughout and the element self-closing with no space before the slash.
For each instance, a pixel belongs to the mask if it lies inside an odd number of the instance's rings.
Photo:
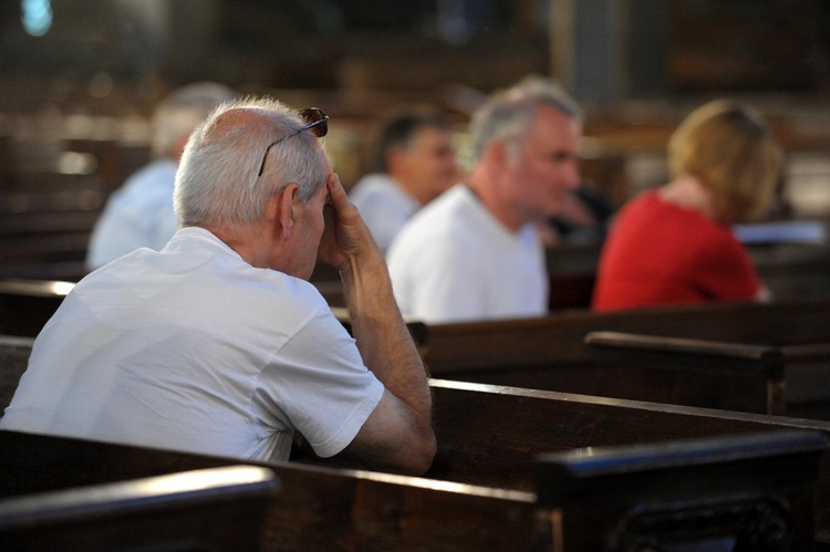
<svg viewBox="0 0 830 552">
<path fill-rule="evenodd" d="M 656 190 L 630 201 L 602 249 L 593 308 L 751 300 L 760 283 L 728 226 L 665 201 Z"/>
</svg>

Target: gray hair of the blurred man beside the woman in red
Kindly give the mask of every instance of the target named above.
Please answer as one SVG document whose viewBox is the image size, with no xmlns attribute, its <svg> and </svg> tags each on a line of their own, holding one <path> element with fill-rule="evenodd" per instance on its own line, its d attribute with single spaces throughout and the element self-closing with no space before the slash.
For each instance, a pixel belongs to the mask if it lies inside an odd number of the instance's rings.
<svg viewBox="0 0 830 552">
<path fill-rule="evenodd" d="M 473 159 L 479 160 L 492 140 L 506 140 L 518 147 L 519 139 L 533 124 L 537 108 L 542 106 L 582 122 L 579 104 L 553 79 L 527 76 L 510 88 L 495 93 L 473 115 Z"/>
</svg>

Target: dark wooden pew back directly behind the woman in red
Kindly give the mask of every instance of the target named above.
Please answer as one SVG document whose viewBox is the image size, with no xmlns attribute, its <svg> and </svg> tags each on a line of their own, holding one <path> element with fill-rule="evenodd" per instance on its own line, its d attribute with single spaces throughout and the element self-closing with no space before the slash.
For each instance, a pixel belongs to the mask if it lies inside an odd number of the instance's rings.
<svg viewBox="0 0 830 552">
<path fill-rule="evenodd" d="M 757 345 L 830 342 L 830 298 L 777 303 L 718 303 L 539 319 L 429 324 L 433 374 L 588 364 L 585 335 L 598 331 L 729 341 Z"/>
</svg>

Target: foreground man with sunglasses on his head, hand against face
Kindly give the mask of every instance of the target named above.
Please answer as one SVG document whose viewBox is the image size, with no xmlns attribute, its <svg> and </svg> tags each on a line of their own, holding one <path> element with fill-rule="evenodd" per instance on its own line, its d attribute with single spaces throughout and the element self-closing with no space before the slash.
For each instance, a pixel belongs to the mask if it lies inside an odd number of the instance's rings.
<svg viewBox="0 0 830 552">
<path fill-rule="evenodd" d="M 268 461 L 301 434 L 323 457 L 426 470 L 423 362 L 331 171 L 328 121 L 268 98 L 214 112 L 176 176 L 179 230 L 73 288 L 0 427 Z M 341 274 L 352 335 L 308 282 L 318 259 Z"/>
</svg>

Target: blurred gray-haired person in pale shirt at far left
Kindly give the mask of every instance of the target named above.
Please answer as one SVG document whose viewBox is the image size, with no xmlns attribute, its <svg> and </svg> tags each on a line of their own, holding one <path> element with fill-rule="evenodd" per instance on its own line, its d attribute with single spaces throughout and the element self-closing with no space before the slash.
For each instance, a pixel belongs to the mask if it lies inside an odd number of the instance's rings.
<svg viewBox="0 0 830 552">
<path fill-rule="evenodd" d="M 177 228 L 173 189 L 187 137 L 234 96 L 225 85 L 203 82 L 175 91 L 158 105 L 153 116 L 152 160 L 107 198 L 90 237 L 89 270 L 138 248 L 158 251 L 167 243 Z"/>
</svg>

